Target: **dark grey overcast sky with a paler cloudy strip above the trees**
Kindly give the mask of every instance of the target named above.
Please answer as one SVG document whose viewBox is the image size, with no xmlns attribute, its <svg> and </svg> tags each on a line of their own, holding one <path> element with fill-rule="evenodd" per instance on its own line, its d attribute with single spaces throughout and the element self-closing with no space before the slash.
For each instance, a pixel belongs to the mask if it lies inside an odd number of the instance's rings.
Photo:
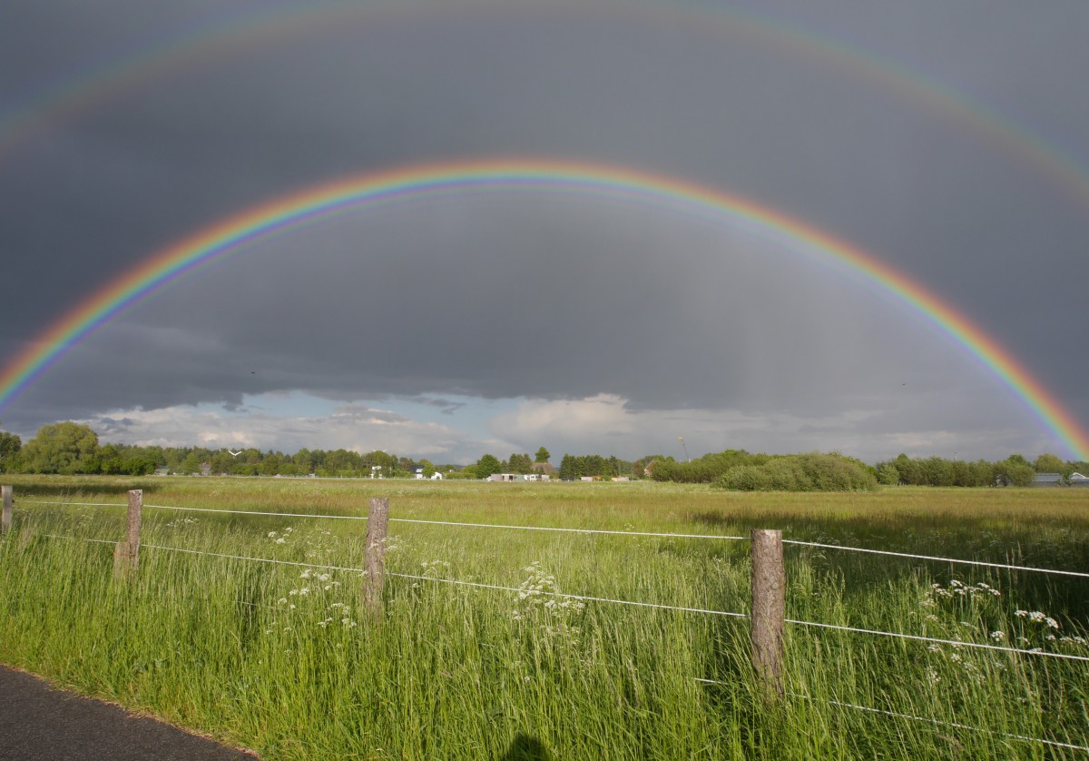
<svg viewBox="0 0 1089 761">
<path fill-rule="evenodd" d="M 7 0 L 0 363 L 204 227 L 504 156 L 700 183 L 847 241 L 1089 426 L 1089 4 Z M 347 11 L 352 7 L 355 10 Z M 362 207 L 161 291 L 0 410 L 132 444 L 437 462 L 1072 452 L 888 290 L 564 189 Z"/>
</svg>

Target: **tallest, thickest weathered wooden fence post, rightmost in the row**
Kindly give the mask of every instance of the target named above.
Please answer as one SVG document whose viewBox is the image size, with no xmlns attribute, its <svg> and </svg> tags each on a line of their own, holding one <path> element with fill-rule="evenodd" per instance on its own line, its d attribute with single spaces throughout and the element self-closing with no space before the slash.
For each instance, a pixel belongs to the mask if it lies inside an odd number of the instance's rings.
<svg viewBox="0 0 1089 761">
<path fill-rule="evenodd" d="M 752 667 L 768 698 L 783 693 L 786 572 L 783 532 L 755 529 L 752 537 Z"/>
</svg>

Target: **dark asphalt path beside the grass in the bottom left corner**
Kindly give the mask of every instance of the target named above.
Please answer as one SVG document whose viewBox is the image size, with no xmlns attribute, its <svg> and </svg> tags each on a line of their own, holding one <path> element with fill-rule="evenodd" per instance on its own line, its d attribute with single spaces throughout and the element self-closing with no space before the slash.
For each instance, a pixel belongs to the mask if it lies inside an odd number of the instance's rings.
<svg viewBox="0 0 1089 761">
<path fill-rule="evenodd" d="M 254 761 L 118 705 L 51 687 L 0 665 L 0 760 Z"/>
</svg>

